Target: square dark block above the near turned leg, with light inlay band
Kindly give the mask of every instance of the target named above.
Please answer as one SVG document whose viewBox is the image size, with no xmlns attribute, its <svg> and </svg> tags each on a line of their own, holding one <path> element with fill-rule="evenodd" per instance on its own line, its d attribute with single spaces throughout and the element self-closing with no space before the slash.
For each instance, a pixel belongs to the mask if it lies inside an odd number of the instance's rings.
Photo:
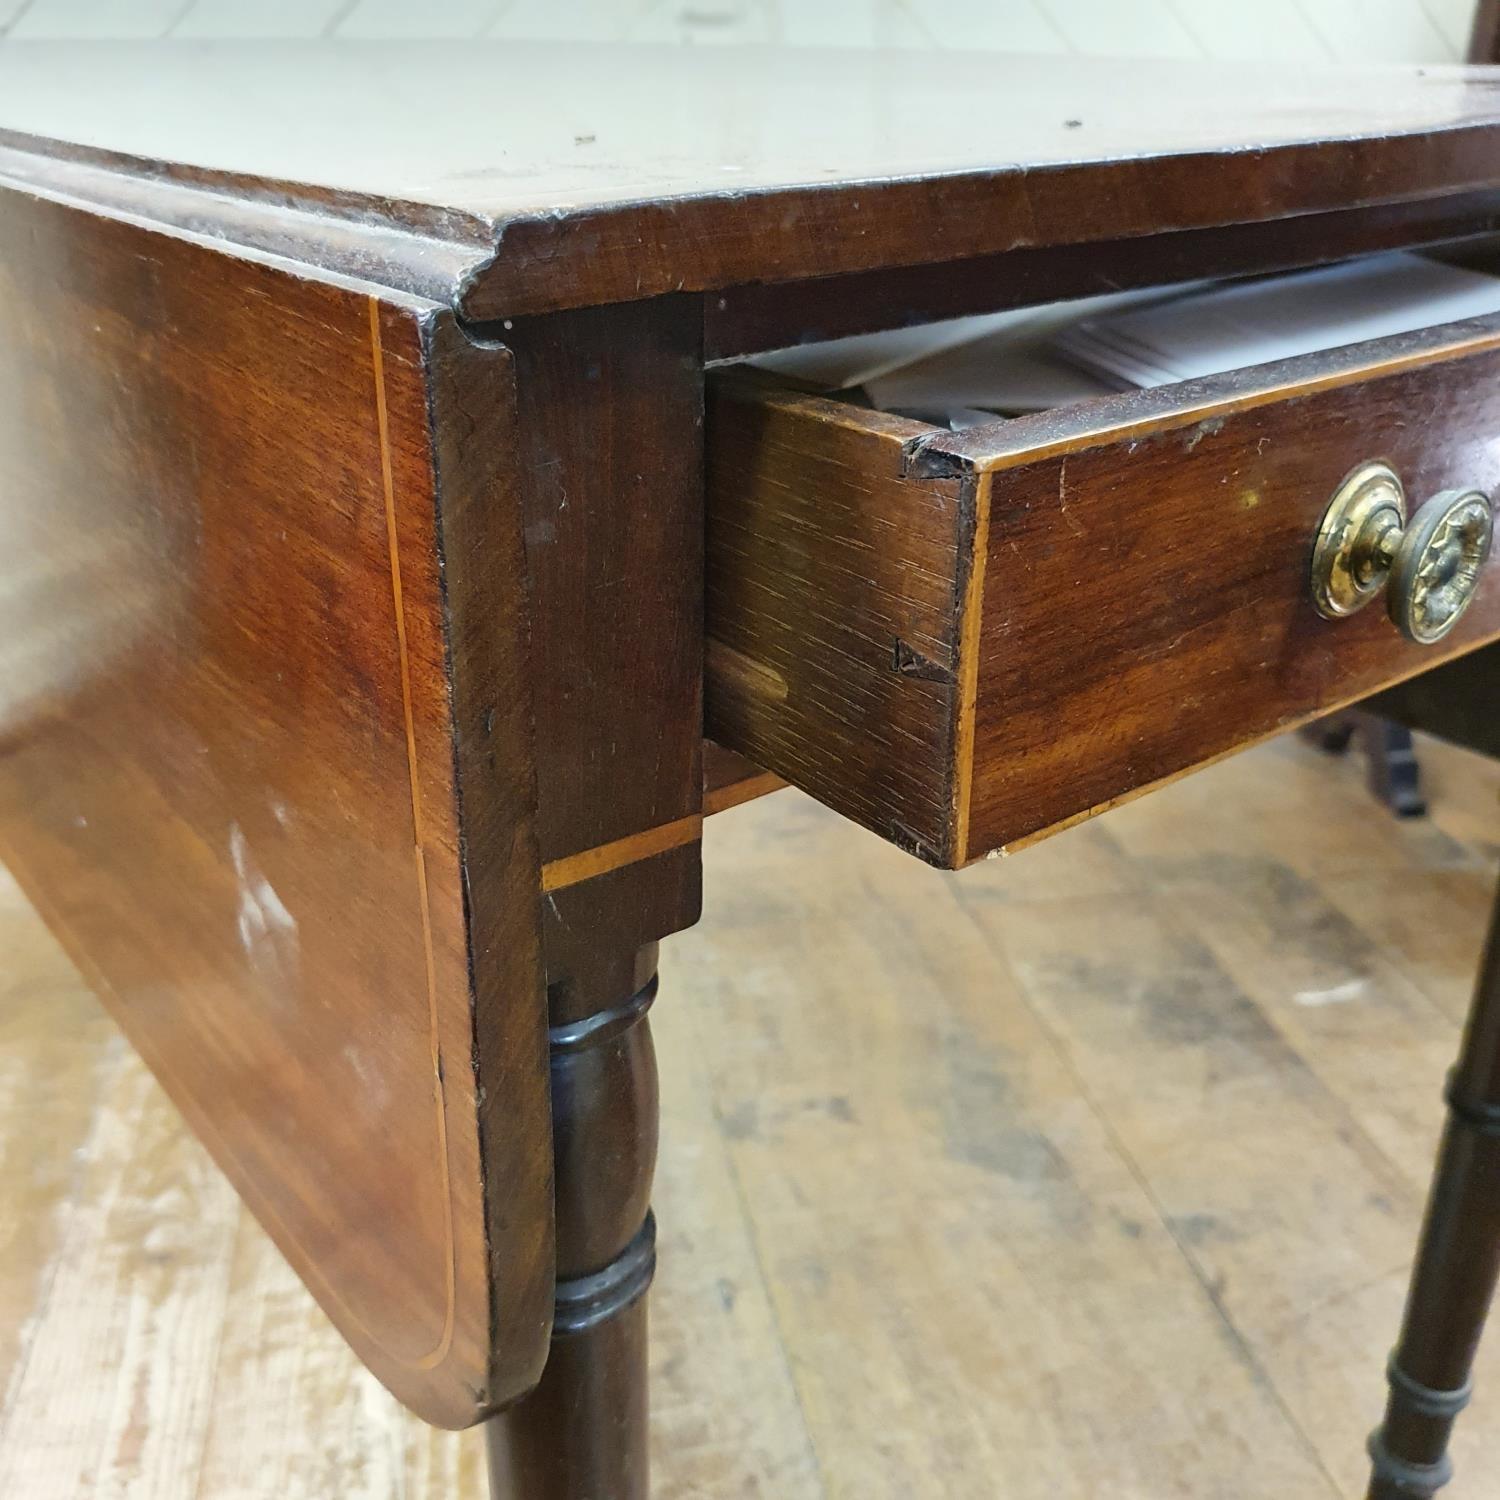
<svg viewBox="0 0 1500 1500">
<path fill-rule="evenodd" d="M 676 297 L 490 332 L 520 392 L 548 978 L 606 1005 L 615 956 L 702 903 L 700 318 Z"/>
</svg>

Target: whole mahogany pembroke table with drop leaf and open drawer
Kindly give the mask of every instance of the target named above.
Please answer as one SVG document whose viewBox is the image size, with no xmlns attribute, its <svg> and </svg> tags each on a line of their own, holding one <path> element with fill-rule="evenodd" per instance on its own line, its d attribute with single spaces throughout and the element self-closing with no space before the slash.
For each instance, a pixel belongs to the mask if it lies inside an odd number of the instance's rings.
<svg viewBox="0 0 1500 1500">
<path fill-rule="evenodd" d="M 963 432 L 734 368 L 1484 256 L 1500 72 L 48 45 L 0 128 L 0 858 L 496 1497 L 646 1496 L 705 813 L 957 868 L 1377 693 L 1500 750 L 1500 316 Z M 1448 1102 L 1378 1500 L 1500 1268 L 1496 948 Z"/>
</svg>

